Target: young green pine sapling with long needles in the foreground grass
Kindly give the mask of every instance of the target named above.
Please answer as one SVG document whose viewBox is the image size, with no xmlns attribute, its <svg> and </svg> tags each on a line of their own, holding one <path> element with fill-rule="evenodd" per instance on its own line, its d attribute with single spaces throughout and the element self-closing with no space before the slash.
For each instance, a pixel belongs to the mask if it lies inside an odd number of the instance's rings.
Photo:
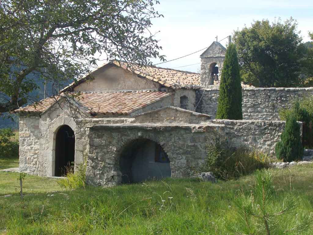
<svg viewBox="0 0 313 235">
<path fill-rule="evenodd" d="M 228 229 L 237 235 L 276 235 L 291 232 L 301 234 L 308 231 L 313 222 L 313 213 L 297 215 L 297 203 L 291 192 L 283 199 L 279 207 L 274 207 L 277 200 L 273 187 L 273 177 L 269 171 L 258 171 L 255 176 L 256 186 L 251 195 L 240 195 L 235 199 L 237 218 Z M 286 217 L 288 216 L 288 217 Z M 286 225 L 288 218 L 290 223 Z"/>
</svg>

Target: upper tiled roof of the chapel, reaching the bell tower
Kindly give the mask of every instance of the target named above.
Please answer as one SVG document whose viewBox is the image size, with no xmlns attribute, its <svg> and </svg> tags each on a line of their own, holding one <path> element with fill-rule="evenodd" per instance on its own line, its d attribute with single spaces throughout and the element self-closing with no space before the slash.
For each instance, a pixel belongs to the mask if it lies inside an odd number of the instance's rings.
<svg viewBox="0 0 313 235">
<path fill-rule="evenodd" d="M 123 69 L 134 72 L 135 74 L 162 84 L 165 87 L 177 88 L 199 88 L 200 87 L 200 74 L 192 73 L 188 71 L 181 71 L 175 69 L 166 69 L 156 66 L 142 66 L 128 64 L 126 62 L 110 61 L 109 63 L 102 64 L 97 69 L 100 69 L 107 64 L 114 64 Z M 97 69 L 92 71 L 95 72 Z M 61 92 L 68 91 L 69 88 L 74 88 L 78 84 L 81 84 L 88 80 L 88 75 L 78 80 L 76 83 L 69 84 Z"/>
</svg>

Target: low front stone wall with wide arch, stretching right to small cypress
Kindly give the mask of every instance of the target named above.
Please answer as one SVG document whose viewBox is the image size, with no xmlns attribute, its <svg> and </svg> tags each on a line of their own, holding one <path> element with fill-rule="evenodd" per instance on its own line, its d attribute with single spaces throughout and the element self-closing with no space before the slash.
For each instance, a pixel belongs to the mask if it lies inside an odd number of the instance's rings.
<svg viewBox="0 0 313 235">
<path fill-rule="evenodd" d="M 125 124 L 90 126 L 87 182 L 114 186 L 121 183 L 121 152 L 133 140 L 148 139 L 167 153 L 172 177 L 190 176 L 191 168 L 206 159 L 206 146 L 219 135 L 234 147 L 245 146 L 274 154 L 284 121 L 212 120 L 201 124 Z"/>
</svg>

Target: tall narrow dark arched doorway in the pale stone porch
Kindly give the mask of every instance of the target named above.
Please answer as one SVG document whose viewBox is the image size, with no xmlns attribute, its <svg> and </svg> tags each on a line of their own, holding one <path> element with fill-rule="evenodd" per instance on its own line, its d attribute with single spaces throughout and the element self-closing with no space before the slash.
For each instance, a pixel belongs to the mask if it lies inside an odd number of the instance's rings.
<svg viewBox="0 0 313 235">
<path fill-rule="evenodd" d="M 75 135 L 72 128 L 63 125 L 55 137 L 55 169 L 54 176 L 64 176 L 66 169 L 74 166 Z"/>
</svg>

